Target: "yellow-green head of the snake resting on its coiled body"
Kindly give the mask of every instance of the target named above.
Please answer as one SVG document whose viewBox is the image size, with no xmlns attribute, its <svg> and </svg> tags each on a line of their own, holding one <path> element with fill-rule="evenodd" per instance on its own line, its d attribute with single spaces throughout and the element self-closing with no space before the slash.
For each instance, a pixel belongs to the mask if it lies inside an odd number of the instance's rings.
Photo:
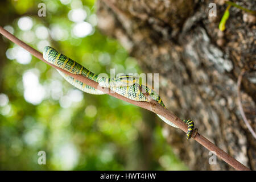
<svg viewBox="0 0 256 182">
<path fill-rule="evenodd" d="M 115 86 L 131 86 L 139 82 L 139 78 L 132 75 L 121 75 L 114 79 Z"/>
</svg>

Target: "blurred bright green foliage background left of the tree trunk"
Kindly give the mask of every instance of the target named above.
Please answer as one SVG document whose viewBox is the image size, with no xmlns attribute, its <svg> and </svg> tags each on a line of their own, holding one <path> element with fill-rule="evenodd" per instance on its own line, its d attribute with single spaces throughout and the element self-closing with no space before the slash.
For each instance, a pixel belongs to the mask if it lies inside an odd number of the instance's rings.
<svg viewBox="0 0 256 182">
<path fill-rule="evenodd" d="M 38 16 L 38 4 L 42 2 L 46 3 L 46 17 Z M 141 73 L 137 60 L 129 57 L 116 40 L 102 35 L 97 26 L 84 38 L 72 35 L 75 22 L 69 20 L 69 11 L 76 3 L 82 5 L 80 8 L 87 14 L 84 21 L 93 24 L 94 0 L 1 3 L 2 14 L 10 20 L 6 24 L 2 19 L 1 26 L 13 28 L 15 36 L 39 51 L 40 42 L 46 40 L 94 73 L 109 73 L 110 68 L 115 68 L 116 73 Z M 24 16 L 33 22 L 27 31 L 18 26 Z M 55 40 L 50 34 L 45 40 L 39 39 L 35 35 L 38 27 L 46 27 L 49 32 L 59 27 L 65 32 L 64 38 Z M 5 49 L 0 68 L 0 169 L 187 169 L 163 138 L 164 130 L 155 114 L 108 95 L 80 93 L 55 69 L 33 56 L 28 64 L 11 59 L 10 50 L 16 46 L 9 40 L 1 37 L 1 44 L 9 52 Z M 36 75 L 45 90 L 38 104 L 31 104 L 24 97 L 26 73 Z M 71 94 L 74 90 L 79 96 L 75 101 Z M 69 103 L 63 106 L 61 100 L 65 99 Z M 39 151 L 46 152 L 46 165 L 38 164 Z"/>
</svg>

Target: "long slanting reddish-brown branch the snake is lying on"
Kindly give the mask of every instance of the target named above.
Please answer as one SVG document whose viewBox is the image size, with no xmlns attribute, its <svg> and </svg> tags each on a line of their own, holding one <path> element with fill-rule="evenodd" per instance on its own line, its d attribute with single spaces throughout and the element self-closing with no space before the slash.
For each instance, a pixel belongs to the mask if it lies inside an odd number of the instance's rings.
<svg viewBox="0 0 256 182">
<path fill-rule="evenodd" d="M 4 28 L 0 27 L 0 33 L 4 36 L 6 36 L 7 39 L 11 40 L 15 44 L 18 44 L 20 47 L 23 47 L 28 52 L 30 52 L 32 55 L 37 57 L 38 59 L 44 61 L 45 63 L 51 65 L 51 67 L 59 69 L 60 71 L 66 73 L 69 76 L 74 77 L 76 80 L 79 80 L 81 82 L 84 82 L 85 84 L 92 86 L 93 88 L 96 88 L 98 90 L 101 90 L 102 92 L 109 94 L 110 96 L 113 96 L 115 98 L 119 98 L 120 100 L 129 102 L 130 104 L 142 107 L 144 109 L 150 110 L 156 114 L 160 114 L 163 117 L 170 120 L 172 123 L 174 123 L 177 127 L 179 127 L 181 130 L 183 130 L 185 133 L 187 133 L 187 125 L 181 121 L 178 117 L 176 117 L 175 114 L 171 113 L 170 111 L 164 109 L 158 102 L 150 101 L 150 102 L 139 102 L 139 101 L 133 101 L 129 98 L 123 97 L 117 93 L 110 92 L 110 89 L 102 88 L 98 85 L 98 82 L 95 82 L 93 80 L 90 80 L 89 78 L 86 78 L 82 75 L 73 75 L 72 73 L 69 73 L 65 71 L 64 69 L 61 69 L 59 67 L 56 67 L 53 64 L 48 63 L 46 60 L 43 59 L 42 53 L 36 51 L 34 48 L 28 46 L 26 43 L 22 42 L 18 38 L 16 38 L 14 35 L 10 34 L 8 31 L 6 31 Z M 238 162 L 236 159 L 232 158 L 232 156 L 226 154 L 223 150 L 215 146 L 212 142 L 210 142 L 208 139 L 204 138 L 202 135 L 197 133 L 197 135 L 194 138 L 197 142 L 199 142 L 201 145 L 203 145 L 205 148 L 207 148 L 209 151 L 216 152 L 216 155 L 220 157 L 222 160 L 224 160 L 226 163 L 228 163 L 230 166 L 237 170 L 250 170 L 249 168 L 243 166 L 240 162 Z"/>
</svg>

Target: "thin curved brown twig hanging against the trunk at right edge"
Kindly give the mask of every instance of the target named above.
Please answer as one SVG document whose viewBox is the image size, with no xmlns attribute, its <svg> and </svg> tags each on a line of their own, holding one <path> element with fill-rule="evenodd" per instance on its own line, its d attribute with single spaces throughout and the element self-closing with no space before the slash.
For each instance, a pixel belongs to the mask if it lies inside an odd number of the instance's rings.
<svg viewBox="0 0 256 182">
<path fill-rule="evenodd" d="M 241 82 L 242 82 L 242 77 L 243 74 L 245 73 L 245 69 L 242 69 L 240 75 L 238 76 L 238 80 L 237 80 L 237 96 L 238 96 L 238 108 L 240 110 L 240 113 L 242 115 L 243 118 L 243 122 L 245 122 L 245 125 L 247 127 L 247 129 L 250 131 L 250 133 L 253 135 L 253 137 L 256 139 L 256 134 L 253 131 L 253 128 L 251 127 L 250 123 L 248 122 L 246 116 L 245 116 L 245 112 L 243 111 L 243 106 L 242 106 L 242 102 L 241 102 L 241 92 L 240 92 L 240 88 L 241 88 Z"/>
</svg>

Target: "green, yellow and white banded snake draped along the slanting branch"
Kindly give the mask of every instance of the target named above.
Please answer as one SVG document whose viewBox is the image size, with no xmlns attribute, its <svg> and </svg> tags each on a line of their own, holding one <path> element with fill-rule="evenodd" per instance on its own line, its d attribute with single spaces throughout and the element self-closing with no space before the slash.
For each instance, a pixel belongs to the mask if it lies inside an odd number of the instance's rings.
<svg viewBox="0 0 256 182">
<path fill-rule="evenodd" d="M 150 87 L 139 84 L 138 78 L 134 76 L 128 76 L 128 75 L 122 75 L 117 78 L 105 78 L 105 77 L 99 77 L 98 75 L 90 72 L 88 69 L 82 67 L 79 63 L 76 63 L 76 61 L 73 61 L 69 57 L 57 52 L 54 48 L 46 46 L 43 51 L 43 57 L 46 61 L 48 61 L 51 64 L 56 65 L 59 68 L 65 69 L 65 71 L 71 72 L 75 75 L 82 75 L 85 76 L 93 81 L 98 82 L 98 84 L 105 88 L 110 88 L 115 93 L 118 93 L 124 97 L 127 97 L 134 101 L 146 101 L 148 102 L 148 99 L 146 96 L 144 96 L 142 89 L 145 90 L 145 92 L 148 94 L 148 96 L 151 97 L 152 100 L 155 100 L 160 105 L 162 105 L 165 109 L 166 106 L 164 106 L 162 99 L 158 95 L 158 93 L 154 92 Z M 97 90 L 89 85 L 86 85 L 85 83 L 76 80 L 75 78 L 68 76 L 67 74 L 57 70 L 61 76 L 65 78 L 71 85 L 75 86 L 76 88 L 90 94 L 105 94 L 104 92 L 101 92 L 100 90 Z M 161 118 L 164 122 L 166 122 L 168 125 L 177 127 L 174 125 L 174 123 L 170 122 L 168 119 L 162 117 L 162 115 L 159 115 L 159 118 Z M 188 125 L 188 131 L 187 131 L 187 139 L 190 139 L 193 133 L 194 129 L 194 122 L 191 120 L 184 119 L 183 122 L 187 123 Z"/>
</svg>

